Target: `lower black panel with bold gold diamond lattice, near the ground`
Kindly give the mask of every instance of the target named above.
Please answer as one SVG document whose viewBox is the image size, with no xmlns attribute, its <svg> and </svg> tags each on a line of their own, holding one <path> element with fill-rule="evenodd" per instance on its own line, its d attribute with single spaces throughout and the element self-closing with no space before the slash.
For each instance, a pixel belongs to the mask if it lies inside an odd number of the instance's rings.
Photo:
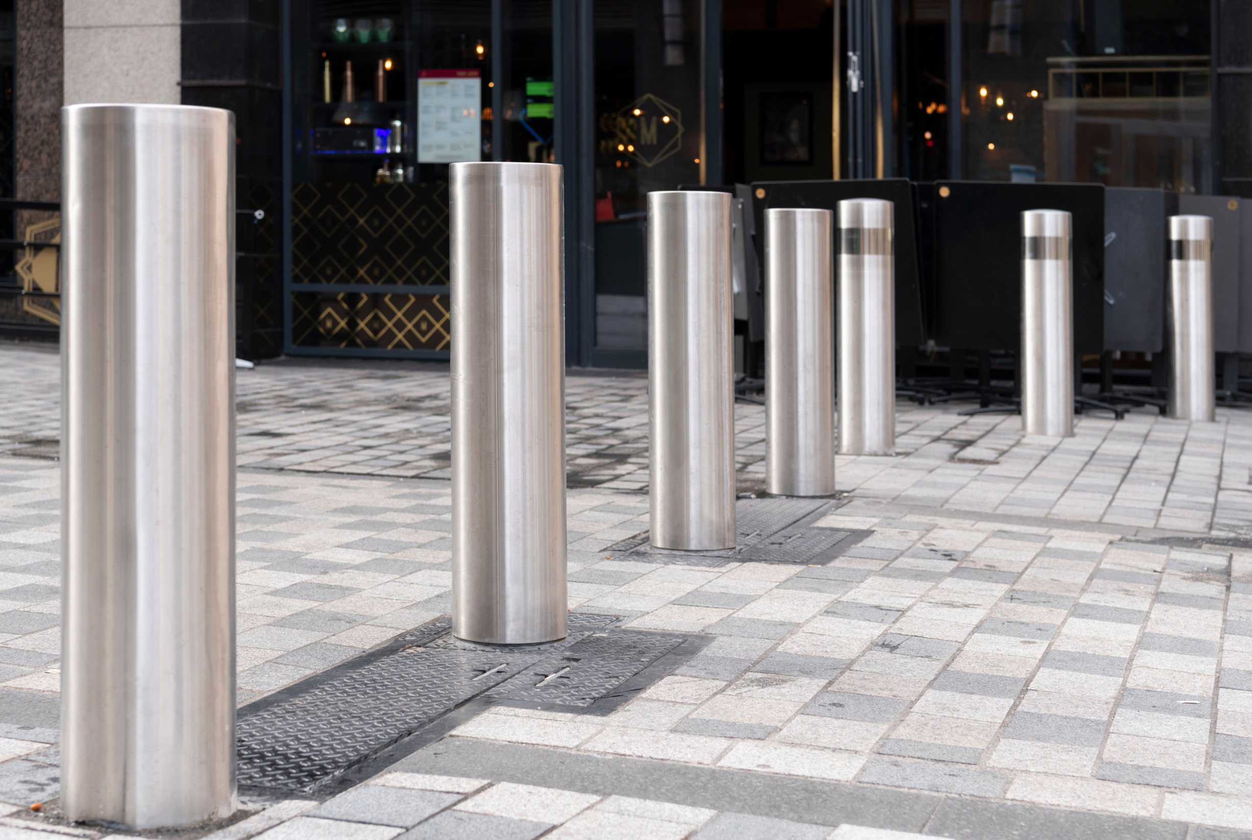
<svg viewBox="0 0 1252 840">
<path fill-rule="evenodd" d="M 292 343 L 297 347 L 447 351 L 448 295 L 297 292 Z"/>
</svg>

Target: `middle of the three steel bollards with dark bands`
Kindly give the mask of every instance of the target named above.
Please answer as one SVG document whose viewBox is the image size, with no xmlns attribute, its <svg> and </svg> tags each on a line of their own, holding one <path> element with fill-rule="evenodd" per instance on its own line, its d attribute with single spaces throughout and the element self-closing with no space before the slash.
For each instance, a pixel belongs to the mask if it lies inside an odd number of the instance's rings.
<svg viewBox="0 0 1252 840">
<path fill-rule="evenodd" d="M 1022 213 L 1022 431 L 1074 433 L 1070 217 Z"/>
</svg>

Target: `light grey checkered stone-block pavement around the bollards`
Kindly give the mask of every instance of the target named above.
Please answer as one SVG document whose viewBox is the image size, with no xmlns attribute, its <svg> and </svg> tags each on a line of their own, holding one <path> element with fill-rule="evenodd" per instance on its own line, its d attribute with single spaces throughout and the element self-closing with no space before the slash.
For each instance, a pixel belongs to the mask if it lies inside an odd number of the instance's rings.
<svg viewBox="0 0 1252 840">
<path fill-rule="evenodd" d="M 0 800 L 15 812 L 56 795 L 59 476 L 39 457 L 55 371 L 55 354 L 0 348 Z M 240 701 L 448 611 L 449 487 L 431 477 L 444 379 L 239 372 L 240 463 L 255 457 L 238 481 Z M 607 551 L 647 527 L 644 386 L 570 378 L 571 463 L 634 447 L 611 453 L 616 477 L 568 491 L 570 607 L 712 643 L 608 716 L 492 707 L 367 785 L 273 805 L 222 840 L 1252 837 L 1252 412 L 1084 417 L 1074 438 L 1023 441 L 1017 418 L 901 407 L 901 454 L 840 458 L 848 503 L 821 523 L 871 536 L 828 566 L 710 568 Z M 762 418 L 736 411 L 750 483 Z M 408 448 L 427 447 L 426 477 L 343 472 L 376 453 L 326 463 L 376 434 L 424 441 Z M 48 836 L 36 826 L 0 815 L 0 840 Z"/>
</svg>

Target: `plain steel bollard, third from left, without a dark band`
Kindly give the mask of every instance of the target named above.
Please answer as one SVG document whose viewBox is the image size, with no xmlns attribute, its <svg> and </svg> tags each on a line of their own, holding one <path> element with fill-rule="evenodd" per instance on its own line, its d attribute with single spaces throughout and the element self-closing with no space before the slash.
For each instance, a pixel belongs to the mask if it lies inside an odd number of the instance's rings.
<svg viewBox="0 0 1252 840">
<path fill-rule="evenodd" d="M 647 194 L 651 542 L 735 545 L 730 195 Z"/>
</svg>

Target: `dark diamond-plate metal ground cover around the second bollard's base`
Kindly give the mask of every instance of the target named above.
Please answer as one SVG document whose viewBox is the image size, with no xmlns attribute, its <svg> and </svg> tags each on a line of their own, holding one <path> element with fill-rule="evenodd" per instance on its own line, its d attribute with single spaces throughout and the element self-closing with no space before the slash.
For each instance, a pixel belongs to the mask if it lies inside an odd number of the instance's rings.
<svg viewBox="0 0 1252 840">
<path fill-rule="evenodd" d="M 570 613 L 560 642 L 507 646 L 456 640 L 438 618 L 242 709 L 239 784 L 312 792 L 483 695 L 586 707 L 687 641 L 616 621 Z"/>
</svg>

